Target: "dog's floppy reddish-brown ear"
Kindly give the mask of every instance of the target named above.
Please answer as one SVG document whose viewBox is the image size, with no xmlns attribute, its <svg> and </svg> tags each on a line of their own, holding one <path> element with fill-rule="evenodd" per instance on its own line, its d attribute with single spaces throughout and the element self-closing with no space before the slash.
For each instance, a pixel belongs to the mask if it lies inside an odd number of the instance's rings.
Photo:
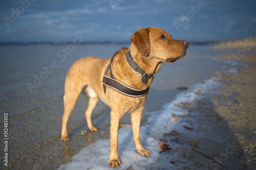
<svg viewBox="0 0 256 170">
<path fill-rule="evenodd" d="M 143 56 L 150 54 L 150 37 L 148 36 L 148 32 L 150 32 L 148 28 L 139 29 L 131 37 L 131 41 Z"/>
</svg>

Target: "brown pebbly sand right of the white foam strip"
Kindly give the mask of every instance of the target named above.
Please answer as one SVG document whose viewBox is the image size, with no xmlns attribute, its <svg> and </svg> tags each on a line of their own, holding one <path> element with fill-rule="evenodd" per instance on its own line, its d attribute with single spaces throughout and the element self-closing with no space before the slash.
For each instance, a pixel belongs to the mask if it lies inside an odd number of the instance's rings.
<svg viewBox="0 0 256 170">
<path fill-rule="evenodd" d="M 186 106 L 199 113 L 188 116 L 197 119 L 194 131 L 205 135 L 201 138 L 178 135 L 186 147 L 174 151 L 180 153 L 174 162 L 185 158 L 193 163 L 180 169 L 255 169 L 256 54 L 245 55 L 240 62 L 245 67 L 237 67 L 236 74 L 219 75 L 222 87 L 203 94 L 194 106 Z M 198 142 L 196 150 L 189 147 L 193 140 Z"/>
</svg>

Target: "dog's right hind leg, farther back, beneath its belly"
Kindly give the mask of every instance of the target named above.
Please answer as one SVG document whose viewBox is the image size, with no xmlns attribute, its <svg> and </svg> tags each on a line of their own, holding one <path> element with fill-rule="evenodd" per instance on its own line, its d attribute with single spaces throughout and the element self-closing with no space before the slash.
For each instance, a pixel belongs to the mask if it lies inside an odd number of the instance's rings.
<svg viewBox="0 0 256 170">
<path fill-rule="evenodd" d="M 97 132 L 98 129 L 95 128 L 92 124 L 91 115 L 92 115 L 93 109 L 96 107 L 97 103 L 99 102 L 99 98 L 95 93 L 95 91 L 90 86 L 87 85 L 85 90 L 86 91 L 83 91 L 83 92 L 86 94 L 87 100 L 88 100 L 88 106 L 86 111 L 84 112 L 84 114 L 86 115 L 87 125 L 91 131 Z"/>
</svg>

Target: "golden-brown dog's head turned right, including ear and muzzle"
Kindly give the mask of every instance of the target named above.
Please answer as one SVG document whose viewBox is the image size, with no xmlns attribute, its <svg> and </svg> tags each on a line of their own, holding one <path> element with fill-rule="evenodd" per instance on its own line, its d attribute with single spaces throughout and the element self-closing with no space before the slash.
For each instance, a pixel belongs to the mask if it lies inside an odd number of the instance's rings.
<svg viewBox="0 0 256 170">
<path fill-rule="evenodd" d="M 132 35 L 131 41 L 143 56 L 166 63 L 183 58 L 188 48 L 188 41 L 172 39 L 168 32 L 152 27 L 139 29 Z"/>
</svg>

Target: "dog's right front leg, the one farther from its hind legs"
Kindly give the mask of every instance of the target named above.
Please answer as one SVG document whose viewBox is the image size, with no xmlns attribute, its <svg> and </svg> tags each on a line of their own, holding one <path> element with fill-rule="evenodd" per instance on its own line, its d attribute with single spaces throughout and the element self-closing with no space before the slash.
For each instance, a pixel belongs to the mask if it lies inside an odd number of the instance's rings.
<svg viewBox="0 0 256 170">
<path fill-rule="evenodd" d="M 133 126 L 133 140 L 136 145 L 136 150 L 141 155 L 151 155 L 150 151 L 147 151 L 140 141 L 140 122 L 142 117 L 142 109 L 132 112 L 131 121 Z"/>
</svg>

